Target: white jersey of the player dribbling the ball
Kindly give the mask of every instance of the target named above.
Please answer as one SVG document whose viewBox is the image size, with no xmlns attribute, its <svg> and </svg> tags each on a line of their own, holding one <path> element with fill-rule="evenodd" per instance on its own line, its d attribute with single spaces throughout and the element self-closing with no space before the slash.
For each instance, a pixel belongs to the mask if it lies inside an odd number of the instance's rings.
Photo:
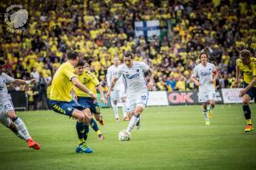
<svg viewBox="0 0 256 170">
<path fill-rule="evenodd" d="M 144 62 L 133 61 L 131 68 L 125 64 L 119 66 L 116 77 L 124 78 L 125 91 L 127 95 L 137 94 L 138 92 L 148 91 L 144 72 L 148 71 L 149 66 Z"/>
</svg>

